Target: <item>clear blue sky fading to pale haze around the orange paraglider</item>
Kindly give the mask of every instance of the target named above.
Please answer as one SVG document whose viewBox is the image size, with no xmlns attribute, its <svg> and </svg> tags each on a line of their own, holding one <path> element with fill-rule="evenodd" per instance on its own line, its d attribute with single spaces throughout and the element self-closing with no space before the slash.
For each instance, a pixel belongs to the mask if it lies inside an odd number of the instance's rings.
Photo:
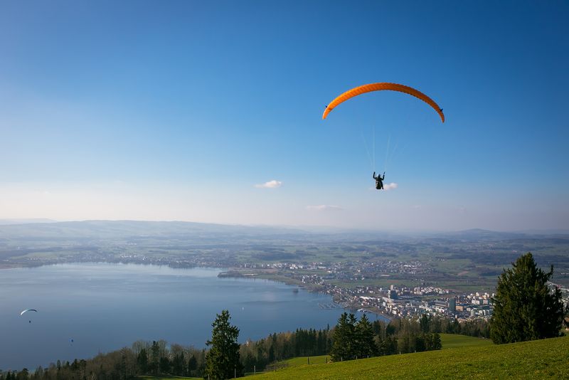
<svg viewBox="0 0 569 380">
<path fill-rule="evenodd" d="M 567 1 L 3 1 L 0 218 L 569 229 L 568 20 Z M 321 120 L 375 82 L 447 121 L 388 91 Z"/>
</svg>

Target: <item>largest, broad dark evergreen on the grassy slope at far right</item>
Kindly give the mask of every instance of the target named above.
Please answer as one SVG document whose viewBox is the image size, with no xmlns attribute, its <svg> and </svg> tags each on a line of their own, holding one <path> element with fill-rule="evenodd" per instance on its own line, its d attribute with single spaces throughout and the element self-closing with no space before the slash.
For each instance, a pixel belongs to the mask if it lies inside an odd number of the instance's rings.
<svg viewBox="0 0 569 380">
<path fill-rule="evenodd" d="M 558 337 L 563 302 L 547 282 L 553 275 L 537 268 L 531 253 L 521 255 L 498 279 L 490 337 L 496 344 Z"/>
</svg>

